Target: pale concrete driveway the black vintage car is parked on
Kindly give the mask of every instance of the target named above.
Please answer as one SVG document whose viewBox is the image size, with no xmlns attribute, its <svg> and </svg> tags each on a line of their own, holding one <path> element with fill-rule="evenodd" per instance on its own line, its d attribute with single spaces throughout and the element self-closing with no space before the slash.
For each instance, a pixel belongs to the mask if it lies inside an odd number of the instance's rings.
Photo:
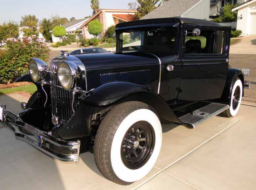
<svg viewBox="0 0 256 190">
<path fill-rule="evenodd" d="M 19 112 L 20 94 L 0 96 Z M 155 167 L 142 180 L 120 186 L 98 171 L 91 153 L 78 164 L 54 160 L 16 141 L 0 126 L 0 188 L 3 190 L 85 189 L 256 189 L 255 105 L 242 105 L 236 117 L 214 117 L 196 129 L 163 125 L 163 143 Z"/>
</svg>

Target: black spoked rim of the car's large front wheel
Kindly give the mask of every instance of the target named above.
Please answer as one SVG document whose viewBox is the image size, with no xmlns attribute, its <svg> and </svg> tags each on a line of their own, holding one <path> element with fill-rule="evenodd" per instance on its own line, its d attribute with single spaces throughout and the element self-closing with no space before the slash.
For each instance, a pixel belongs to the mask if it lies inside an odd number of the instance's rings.
<svg viewBox="0 0 256 190">
<path fill-rule="evenodd" d="M 121 158 L 129 169 L 138 169 L 149 160 L 155 146 L 155 132 L 146 121 L 133 124 L 123 138 Z"/>
</svg>

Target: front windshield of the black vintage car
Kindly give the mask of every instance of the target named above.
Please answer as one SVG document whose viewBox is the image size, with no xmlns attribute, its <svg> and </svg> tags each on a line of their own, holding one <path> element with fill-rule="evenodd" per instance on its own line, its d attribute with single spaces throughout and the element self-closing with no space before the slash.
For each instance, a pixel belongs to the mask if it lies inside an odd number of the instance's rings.
<svg viewBox="0 0 256 190">
<path fill-rule="evenodd" d="M 153 54 L 176 54 L 177 30 L 173 27 L 140 28 L 119 33 L 119 51 L 145 51 Z"/>
</svg>

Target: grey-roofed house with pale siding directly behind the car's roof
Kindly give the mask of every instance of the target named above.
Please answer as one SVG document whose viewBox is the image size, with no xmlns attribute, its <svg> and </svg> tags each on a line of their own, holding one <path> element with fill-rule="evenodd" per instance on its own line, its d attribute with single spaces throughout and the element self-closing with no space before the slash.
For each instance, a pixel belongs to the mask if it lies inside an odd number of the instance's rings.
<svg viewBox="0 0 256 190">
<path fill-rule="evenodd" d="M 169 0 L 142 19 L 187 17 L 209 20 L 210 0 Z"/>
</svg>

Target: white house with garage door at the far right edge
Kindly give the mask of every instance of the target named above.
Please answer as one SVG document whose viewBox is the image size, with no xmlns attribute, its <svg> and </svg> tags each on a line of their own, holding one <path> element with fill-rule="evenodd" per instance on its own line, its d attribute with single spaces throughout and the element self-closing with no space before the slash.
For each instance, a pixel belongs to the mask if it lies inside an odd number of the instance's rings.
<svg viewBox="0 0 256 190">
<path fill-rule="evenodd" d="M 256 35 L 256 0 L 247 0 L 232 11 L 237 11 L 237 30 L 242 35 Z"/>
</svg>

